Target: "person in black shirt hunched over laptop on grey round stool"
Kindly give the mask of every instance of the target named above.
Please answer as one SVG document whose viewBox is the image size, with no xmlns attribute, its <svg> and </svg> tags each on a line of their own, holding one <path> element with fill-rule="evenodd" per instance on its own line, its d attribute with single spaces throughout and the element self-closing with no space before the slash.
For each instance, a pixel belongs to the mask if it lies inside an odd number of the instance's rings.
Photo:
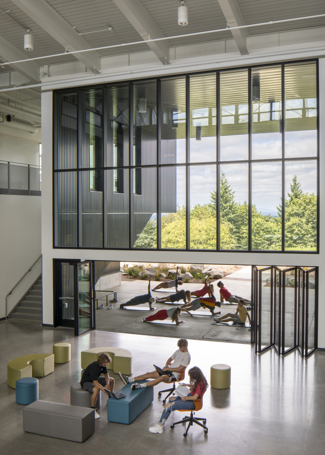
<svg viewBox="0 0 325 455">
<path fill-rule="evenodd" d="M 107 394 L 107 389 L 114 389 L 114 379 L 110 378 L 107 372 L 107 364 L 112 362 L 111 357 L 103 352 L 99 354 L 97 360 L 89 364 L 81 376 L 80 385 L 81 388 L 91 393 L 91 408 L 95 409 L 95 404 L 97 401 L 98 393 L 100 390 Z M 105 374 L 105 377 L 101 378 L 101 374 Z M 95 419 L 99 419 L 100 415 L 96 413 L 95 410 Z"/>
</svg>

